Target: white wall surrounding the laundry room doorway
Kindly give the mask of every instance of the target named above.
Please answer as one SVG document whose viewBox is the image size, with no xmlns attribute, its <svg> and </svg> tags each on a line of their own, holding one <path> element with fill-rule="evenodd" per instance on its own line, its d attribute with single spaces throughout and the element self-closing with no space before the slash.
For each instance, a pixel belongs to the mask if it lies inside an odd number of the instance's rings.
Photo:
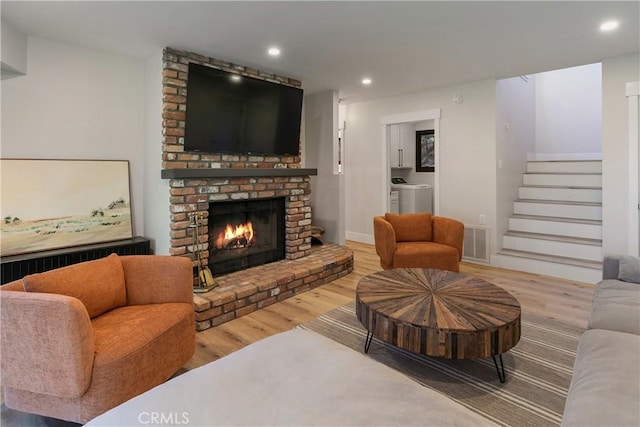
<svg viewBox="0 0 640 427">
<path fill-rule="evenodd" d="M 461 94 L 464 102 L 451 97 Z M 384 214 L 387 148 L 380 118 L 441 109 L 440 215 L 476 224 L 484 214 L 495 229 L 495 80 L 347 105 L 347 239 L 373 241 L 373 217 Z"/>
</svg>

